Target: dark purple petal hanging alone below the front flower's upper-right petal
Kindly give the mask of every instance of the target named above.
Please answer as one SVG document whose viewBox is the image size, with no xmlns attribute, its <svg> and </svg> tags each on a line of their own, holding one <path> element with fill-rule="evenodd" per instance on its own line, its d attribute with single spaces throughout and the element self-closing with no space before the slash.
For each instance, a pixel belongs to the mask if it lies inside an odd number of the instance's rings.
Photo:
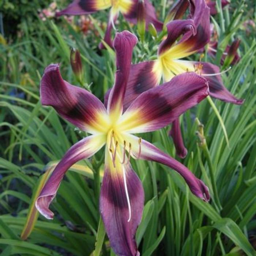
<svg viewBox="0 0 256 256">
<path fill-rule="evenodd" d="M 170 130 L 170 136 L 173 138 L 174 146 L 176 148 L 176 154 L 180 158 L 186 157 L 188 151 L 184 146 L 184 142 L 181 135 L 180 121 L 179 118 L 173 121 L 172 129 Z"/>
</svg>

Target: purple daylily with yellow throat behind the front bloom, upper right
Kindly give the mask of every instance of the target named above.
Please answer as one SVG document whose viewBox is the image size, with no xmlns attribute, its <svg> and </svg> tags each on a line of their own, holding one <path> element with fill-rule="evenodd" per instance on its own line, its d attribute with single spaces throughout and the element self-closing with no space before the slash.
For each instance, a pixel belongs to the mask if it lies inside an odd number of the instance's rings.
<svg viewBox="0 0 256 256">
<path fill-rule="evenodd" d="M 205 1 L 191 0 L 190 13 L 192 19 L 173 20 L 167 23 L 167 38 L 159 45 L 157 60 L 132 65 L 124 100 L 125 109 L 139 94 L 159 85 L 161 78 L 169 81 L 174 76 L 186 72 L 196 72 L 205 77 L 212 97 L 235 104 L 243 103 L 242 99 L 234 97 L 223 86 L 218 66 L 208 62 L 182 60 L 196 53 L 210 40 L 210 8 L 207 7 Z M 180 40 L 176 43 L 178 38 Z M 108 94 L 106 94 L 105 101 L 107 98 Z M 170 135 L 173 137 L 177 155 L 184 158 L 187 149 L 182 141 L 178 124 L 177 119 Z"/>
</svg>

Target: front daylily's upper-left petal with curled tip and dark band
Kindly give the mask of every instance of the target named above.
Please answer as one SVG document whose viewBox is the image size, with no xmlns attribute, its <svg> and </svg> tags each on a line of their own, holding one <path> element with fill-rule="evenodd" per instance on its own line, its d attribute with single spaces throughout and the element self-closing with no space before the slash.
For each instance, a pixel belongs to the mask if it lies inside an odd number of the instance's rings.
<svg viewBox="0 0 256 256">
<path fill-rule="evenodd" d="M 59 64 L 45 68 L 40 84 L 42 105 L 53 108 L 70 123 L 82 130 L 101 131 L 100 117 L 107 115 L 102 102 L 88 91 L 62 79 Z"/>
</svg>

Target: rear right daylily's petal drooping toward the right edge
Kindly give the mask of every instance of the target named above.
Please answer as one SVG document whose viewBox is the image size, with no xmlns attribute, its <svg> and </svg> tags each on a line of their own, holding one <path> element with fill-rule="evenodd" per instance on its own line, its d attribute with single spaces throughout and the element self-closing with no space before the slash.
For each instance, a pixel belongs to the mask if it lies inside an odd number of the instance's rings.
<svg viewBox="0 0 256 256">
<path fill-rule="evenodd" d="M 220 72 L 219 67 L 208 63 L 208 62 L 193 62 L 195 65 L 201 65 L 202 71 L 201 74 L 218 74 Z M 234 103 L 241 105 L 244 102 L 244 99 L 238 99 L 233 94 L 231 94 L 226 87 L 223 85 L 221 75 L 212 75 L 205 76 L 209 83 L 210 95 L 214 98 L 220 99 L 225 102 Z"/>
</svg>

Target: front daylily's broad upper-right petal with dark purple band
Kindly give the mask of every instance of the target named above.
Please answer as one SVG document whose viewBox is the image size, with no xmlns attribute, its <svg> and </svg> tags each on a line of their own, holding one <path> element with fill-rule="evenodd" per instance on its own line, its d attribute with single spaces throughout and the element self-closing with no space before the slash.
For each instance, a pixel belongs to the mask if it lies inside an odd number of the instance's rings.
<svg viewBox="0 0 256 256">
<path fill-rule="evenodd" d="M 129 133 L 155 131 L 165 127 L 209 94 L 206 79 L 184 73 L 142 93 L 133 101 L 120 121 Z"/>
</svg>

